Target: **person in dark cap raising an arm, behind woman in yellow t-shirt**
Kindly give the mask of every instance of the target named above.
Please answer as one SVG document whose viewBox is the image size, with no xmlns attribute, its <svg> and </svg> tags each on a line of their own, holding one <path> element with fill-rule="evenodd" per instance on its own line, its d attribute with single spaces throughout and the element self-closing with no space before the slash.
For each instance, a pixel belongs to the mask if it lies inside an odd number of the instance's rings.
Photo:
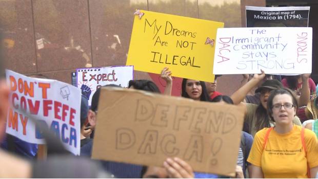
<svg viewBox="0 0 318 179">
<path fill-rule="evenodd" d="M 234 104 L 240 104 L 245 107 L 245 119 L 244 119 L 244 131 L 250 133 L 253 137 L 255 133 L 264 127 L 274 126 L 274 122 L 269 119 L 267 114 L 267 99 L 270 95 L 270 91 L 277 88 L 283 88 L 283 85 L 278 80 L 266 80 L 261 87 L 257 88 L 255 93 L 261 93 L 259 105 L 243 103 L 242 101 L 246 97 L 247 93 L 265 78 L 264 71 L 262 74 L 254 74 L 253 78 L 238 89 L 232 96 Z M 304 93 L 303 95 L 306 95 Z M 298 103 L 305 103 L 303 95 L 298 100 Z M 307 101 L 308 102 L 308 101 Z M 306 102 L 306 103 L 307 103 Z M 300 119 L 295 116 L 293 123 L 296 125 L 302 125 Z"/>
</svg>

